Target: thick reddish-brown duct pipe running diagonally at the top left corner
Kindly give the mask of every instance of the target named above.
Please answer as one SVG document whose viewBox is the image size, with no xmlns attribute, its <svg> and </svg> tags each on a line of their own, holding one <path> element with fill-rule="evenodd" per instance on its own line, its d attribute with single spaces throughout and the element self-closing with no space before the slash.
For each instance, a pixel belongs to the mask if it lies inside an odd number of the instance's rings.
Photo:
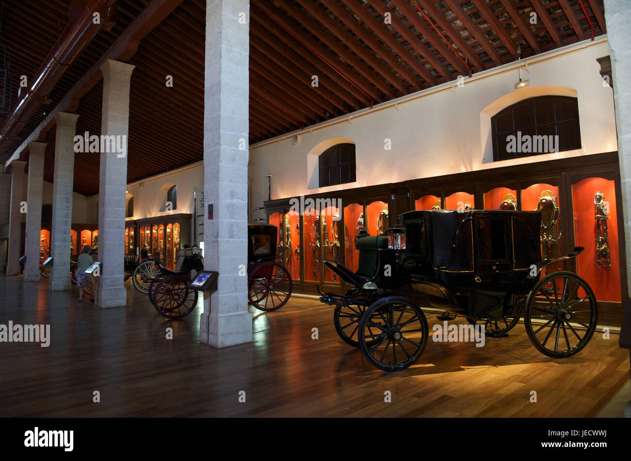
<svg viewBox="0 0 631 461">
<path fill-rule="evenodd" d="M 50 54 L 35 74 L 36 76 L 33 77 L 33 83 L 28 88 L 27 94 L 21 98 L 0 130 L 0 155 L 11 146 L 68 67 L 114 15 L 116 1 L 73 0 L 68 15 L 70 22 L 50 49 Z M 98 24 L 93 22 L 94 13 L 100 15 Z"/>
</svg>

